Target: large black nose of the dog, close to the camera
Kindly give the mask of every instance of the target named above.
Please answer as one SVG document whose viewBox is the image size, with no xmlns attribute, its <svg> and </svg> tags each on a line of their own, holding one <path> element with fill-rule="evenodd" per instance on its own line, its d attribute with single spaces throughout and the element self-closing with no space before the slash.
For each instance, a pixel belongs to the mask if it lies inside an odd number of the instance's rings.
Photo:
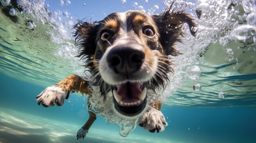
<svg viewBox="0 0 256 143">
<path fill-rule="evenodd" d="M 107 62 L 115 73 L 128 75 L 140 69 L 144 58 L 145 52 L 140 45 L 120 45 L 109 51 Z"/>
</svg>

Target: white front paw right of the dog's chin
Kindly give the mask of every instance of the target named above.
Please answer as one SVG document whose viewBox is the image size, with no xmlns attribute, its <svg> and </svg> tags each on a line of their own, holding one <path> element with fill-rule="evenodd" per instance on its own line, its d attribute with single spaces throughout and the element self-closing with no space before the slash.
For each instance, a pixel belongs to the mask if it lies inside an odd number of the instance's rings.
<svg viewBox="0 0 256 143">
<path fill-rule="evenodd" d="M 139 117 L 138 125 L 149 132 L 155 132 L 155 130 L 159 132 L 164 130 L 164 126 L 166 126 L 167 123 L 161 111 L 149 107 L 148 111 Z"/>
</svg>

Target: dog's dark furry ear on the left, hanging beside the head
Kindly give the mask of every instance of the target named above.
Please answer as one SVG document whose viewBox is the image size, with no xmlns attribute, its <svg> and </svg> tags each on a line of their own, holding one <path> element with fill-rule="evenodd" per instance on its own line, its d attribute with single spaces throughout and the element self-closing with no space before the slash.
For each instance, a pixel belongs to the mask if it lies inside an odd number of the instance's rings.
<svg viewBox="0 0 256 143">
<path fill-rule="evenodd" d="M 89 22 L 79 21 L 74 25 L 74 37 L 76 45 L 79 46 L 78 55 L 76 57 L 90 58 L 96 51 L 96 35 L 99 30 L 99 25 Z"/>
</svg>

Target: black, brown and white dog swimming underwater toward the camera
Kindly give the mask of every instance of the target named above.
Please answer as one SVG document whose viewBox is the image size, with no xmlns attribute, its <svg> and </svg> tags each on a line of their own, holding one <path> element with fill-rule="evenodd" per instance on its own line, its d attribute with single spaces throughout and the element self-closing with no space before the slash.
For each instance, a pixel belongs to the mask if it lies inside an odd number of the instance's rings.
<svg viewBox="0 0 256 143">
<path fill-rule="evenodd" d="M 118 116 L 138 119 L 137 124 L 149 132 L 164 130 L 167 123 L 162 102 L 147 98 L 169 84 L 173 62 L 167 56 L 181 54 L 175 44 L 182 42 L 184 23 L 195 36 L 195 20 L 173 4 L 159 15 L 126 11 L 112 13 L 99 22 L 78 21 L 74 25 L 77 57 L 87 61 L 87 77 L 69 75 L 47 87 L 36 97 L 38 105 L 62 106 L 71 92 L 81 92 L 89 99 L 97 92 L 101 95 L 97 100 L 103 103 L 107 95 L 111 96 L 111 108 Z M 90 117 L 77 132 L 77 139 L 84 139 L 96 120 L 96 114 L 88 112 Z"/>
</svg>

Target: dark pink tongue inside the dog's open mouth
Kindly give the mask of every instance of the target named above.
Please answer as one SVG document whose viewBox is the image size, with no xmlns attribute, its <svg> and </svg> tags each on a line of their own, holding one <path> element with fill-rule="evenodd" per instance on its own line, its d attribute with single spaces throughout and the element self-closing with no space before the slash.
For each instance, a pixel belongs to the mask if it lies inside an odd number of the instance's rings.
<svg viewBox="0 0 256 143">
<path fill-rule="evenodd" d="M 141 82 L 135 83 L 125 83 L 125 84 L 118 84 L 117 87 L 117 94 L 120 95 L 123 99 L 130 98 L 130 99 L 139 99 L 139 95 L 141 95 Z"/>
</svg>

